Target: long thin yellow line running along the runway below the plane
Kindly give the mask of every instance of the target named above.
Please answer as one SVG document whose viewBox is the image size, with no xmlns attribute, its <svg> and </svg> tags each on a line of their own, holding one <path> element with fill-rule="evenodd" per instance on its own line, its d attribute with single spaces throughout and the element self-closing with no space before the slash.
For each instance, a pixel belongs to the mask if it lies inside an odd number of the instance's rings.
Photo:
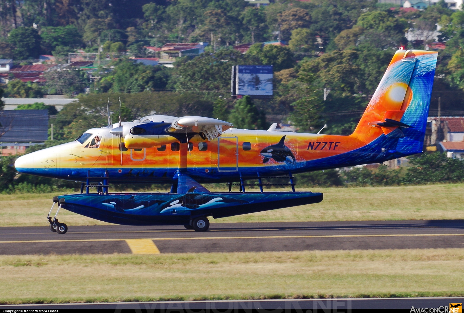
<svg viewBox="0 0 464 313">
<path fill-rule="evenodd" d="M 350 238 L 350 237 L 435 237 L 464 236 L 464 234 L 372 234 L 372 235 L 314 235 L 314 236 L 243 236 L 243 237 L 179 237 L 179 238 L 143 238 L 143 240 L 200 240 L 200 239 L 265 239 L 265 238 Z M 126 241 L 130 239 L 57 239 L 57 240 L 12 240 L 0 241 L 0 244 L 21 244 L 39 242 L 83 242 L 83 241 Z M 135 238 L 135 240 L 140 240 Z"/>
</svg>

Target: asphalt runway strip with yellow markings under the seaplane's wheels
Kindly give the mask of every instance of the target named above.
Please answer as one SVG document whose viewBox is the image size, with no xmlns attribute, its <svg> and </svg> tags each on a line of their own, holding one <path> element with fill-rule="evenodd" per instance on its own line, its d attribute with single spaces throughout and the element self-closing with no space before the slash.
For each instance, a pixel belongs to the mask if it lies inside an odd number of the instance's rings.
<svg viewBox="0 0 464 313">
<path fill-rule="evenodd" d="M 464 220 L 0 227 L 0 254 L 179 253 L 464 248 Z"/>
</svg>

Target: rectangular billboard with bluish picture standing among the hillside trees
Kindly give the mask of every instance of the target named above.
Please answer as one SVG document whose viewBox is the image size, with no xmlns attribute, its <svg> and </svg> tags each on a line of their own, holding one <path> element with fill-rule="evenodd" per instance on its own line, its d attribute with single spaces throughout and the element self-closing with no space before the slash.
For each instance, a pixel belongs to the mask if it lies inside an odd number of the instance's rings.
<svg viewBox="0 0 464 313">
<path fill-rule="evenodd" d="M 234 68 L 232 84 L 235 86 L 232 86 L 232 92 L 240 95 L 272 96 L 272 65 L 237 65 Z"/>
</svg>

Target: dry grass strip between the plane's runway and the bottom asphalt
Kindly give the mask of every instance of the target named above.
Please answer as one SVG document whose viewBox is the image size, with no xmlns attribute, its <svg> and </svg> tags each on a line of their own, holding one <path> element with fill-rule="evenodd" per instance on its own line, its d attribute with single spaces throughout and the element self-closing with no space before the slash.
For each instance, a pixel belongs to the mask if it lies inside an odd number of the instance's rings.
<svg viewBox="0 0 464 313">
<path fill-rule="evenodd" d="M 464 249 L 0 256 L 0 303 L 464 295 Z"/>
</svg>

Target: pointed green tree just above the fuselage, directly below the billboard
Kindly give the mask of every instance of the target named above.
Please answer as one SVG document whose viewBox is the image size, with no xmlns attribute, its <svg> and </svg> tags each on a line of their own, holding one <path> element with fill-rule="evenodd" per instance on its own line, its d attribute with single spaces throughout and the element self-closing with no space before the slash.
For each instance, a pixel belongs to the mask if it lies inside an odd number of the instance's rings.
<svg viewBox="0 0 464 313">
<path fill-rule="evenodd" d="M 238 99 L 229 115 L 228 122 L 240 129 L 265 129 L 266 118 L 259 112 L 250 96 Z"/>
</svg>

